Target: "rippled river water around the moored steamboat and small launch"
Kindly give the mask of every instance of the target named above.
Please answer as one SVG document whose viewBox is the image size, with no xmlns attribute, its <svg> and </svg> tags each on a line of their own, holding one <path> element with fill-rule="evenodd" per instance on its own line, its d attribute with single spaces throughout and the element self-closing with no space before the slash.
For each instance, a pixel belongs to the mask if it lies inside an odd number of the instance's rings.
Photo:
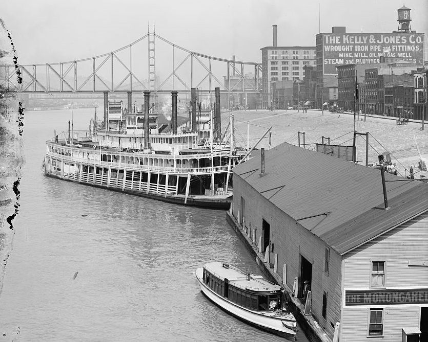
<svg viewBox="0 0 428 342">
<path fill-rule="evenodd" d="M 74 109 L 73 117 L 75 130 L 87 129 L 93 110 Z M 25 113 L 26 163 L 0 296 L 0 341 L 283 341 L 200 291 L 194 270 L 205 262 L 260 274 L 224 211 L 43 175 L 45 141 L 68 120 L 71 110 Z M 297 340 L 308 341 L 302 332 Z"/>
</svg>

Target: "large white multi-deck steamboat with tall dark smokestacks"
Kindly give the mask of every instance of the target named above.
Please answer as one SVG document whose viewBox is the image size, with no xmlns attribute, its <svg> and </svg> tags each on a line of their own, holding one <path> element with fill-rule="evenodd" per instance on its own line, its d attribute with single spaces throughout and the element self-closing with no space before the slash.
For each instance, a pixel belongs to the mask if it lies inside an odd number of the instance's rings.
<svg viewBox="0 0 428 342">
<path fill-rule="evenodd" d="M 232 198 L 232 168 L 248 158 L 251 150 L 235 146 L 233 115 L 228 139 L 219 134 L 217 89 L 215 115 L 211 110 L 206 117 L 199 115 L 197 121 L 192 110 L 191 120 L 181 132 L 177 129 L 177 92 L 172 92 L 168 132 L 164 131 L 167 125 L 158 126 L 158 116 L 149 109 L 150 92 L 144 92 L 141 112 L 135 107 L 132 112 L 109 114 L 107 110 L 104 124 L 97 125 L 95 118 L 89 134 L 72 130 L 70 136 L 69 129 L 68 134 L 60 133 L 47 141 L 44 172 L 143 197 L 227 209 Z M 111 122 L 113 127 L 109 127 Z"/>
</svg>

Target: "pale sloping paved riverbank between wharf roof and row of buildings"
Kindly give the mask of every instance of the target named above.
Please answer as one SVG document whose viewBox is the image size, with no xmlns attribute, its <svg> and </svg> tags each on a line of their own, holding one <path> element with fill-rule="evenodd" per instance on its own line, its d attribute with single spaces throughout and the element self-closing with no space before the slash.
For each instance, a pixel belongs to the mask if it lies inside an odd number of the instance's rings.
<svg viewBox="0 0 428 342">
<path fill-rule="evenodd" d="M 223 124 L 227 113 L 222 114 Z M 305 132 L 307 148 L 315 150 L 315 143 L 321 143 L 321 136 L 330 138 L 332 145 L 352 145 L 354 118 L 347 113 L 330 113 L 324 110 L 324 115 L 318 110 L 308 110 L 307 113 L 297 110 L 240 110 L 234 111 L 235 139 L 241 146 L 247 145 L 247 120 L 250 122 L 250 147 L 260 136 L 272 126 L 272 146 L 282 142 L 298 144 L 298 131 Z M 413 165 L 415 177 L 425 175 L 427 171 L 418 168 L 419 154 L 428 158 L 428 125 L 420 130 L 421 123 L 409 122 L 409 125 L 397 125 L 396 120 L 383 117 L 356 116 L 357 132 L 369 132 L 369 163 L 378 161 L 377 156 L 384 151 L 391 153 L 393 163 L 397 163 L 399 175 L 405 177 L 405 172 Z M 376 141 L 377 140 L 377 141 Z M 326 142 L 324 140 L 324 142 Z M 302 135 L 300 144 L 303 144 Z M 383 146 L 383 147 L 382 147 Z M 268 148 L 268 138 L 263 139 L 258 147 Z M 419 149 L 419 152 L 418 152 Z M 365 163 L 365 136 L 357 136 L 357 161 Z M 400 163 L 402 165 L 400 165 Z"/>
</svg>

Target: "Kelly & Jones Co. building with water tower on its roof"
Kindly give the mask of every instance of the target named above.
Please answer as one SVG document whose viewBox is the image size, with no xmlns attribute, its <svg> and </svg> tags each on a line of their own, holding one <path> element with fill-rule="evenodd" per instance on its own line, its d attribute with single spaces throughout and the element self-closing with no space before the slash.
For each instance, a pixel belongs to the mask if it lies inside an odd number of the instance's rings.
<svg viewBox="0 0 428 342">
<path fill-rule="evenodd" d="M 410 21 L 410 9 L 403 6 L 398 9 L 398 30 L 392 33 L 347 33 L 345 27 L 333 27 L 332 33 L 317 34 L 317 107 L 321 108 L 325 102 L 325 85 L 335 79 L 337 82 L 337 65 L 393 63 L 401 60 L 412 63 L 414 69 L 416 65 L 423 65 L 425 35 L 412 31 Z M 371 100 L 370 107 L 373 110 L 376 108 L 376 112 L 383 112 L 383 99 L 377 96 L 376 100 Z M 377 106 L 378 100 L 381 108 Z"/>
</svg>

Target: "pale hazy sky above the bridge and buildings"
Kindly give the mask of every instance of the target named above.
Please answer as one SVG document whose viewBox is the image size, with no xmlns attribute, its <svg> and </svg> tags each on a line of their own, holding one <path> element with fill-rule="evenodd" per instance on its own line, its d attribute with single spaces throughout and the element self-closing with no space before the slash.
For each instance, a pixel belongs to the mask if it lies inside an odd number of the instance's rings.
<svg viewBox="0 0 428 342">
<path fill-rule="evenodd" d="M 412 29 L 428 33 L 428 2 L 407 0 Z M 260 48 L 315 46 L 319 32 L 392 32 L 398 0 L 2 0 L 2 17 L 12 34 L 18 62 L 37 64 L 101 55 L 130 44 L 156 26 L 156 33 L 191 51 L 259 62 Z M 428 48 L 425 37 L 425 49 Z"/>
</svg>

